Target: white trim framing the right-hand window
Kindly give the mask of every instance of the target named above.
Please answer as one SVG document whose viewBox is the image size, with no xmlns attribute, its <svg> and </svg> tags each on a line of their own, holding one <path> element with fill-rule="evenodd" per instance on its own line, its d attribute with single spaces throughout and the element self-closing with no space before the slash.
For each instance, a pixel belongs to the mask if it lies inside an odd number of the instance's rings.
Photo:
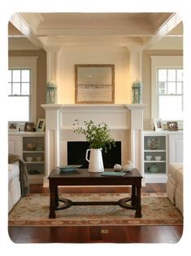
<svg viewBox="0 0 191 256">
<path fill-rule="evenodd" d="M 157 70 L 158 68 L 183 68 L 182 56 L 151 55 L 151 119 L 158 118 Z"/>
</svg>

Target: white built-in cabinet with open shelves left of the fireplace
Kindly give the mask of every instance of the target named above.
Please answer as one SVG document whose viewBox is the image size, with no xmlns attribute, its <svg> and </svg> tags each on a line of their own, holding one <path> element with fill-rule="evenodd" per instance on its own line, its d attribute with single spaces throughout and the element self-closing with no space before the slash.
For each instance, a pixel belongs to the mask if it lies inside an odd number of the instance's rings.
<svg viewBox="0 0 191 256">
<path fill-rule="evenodd" d="M 24 160 L 29 183 L 43 183 L 46 156 L 44 132 L 10 132 L 8 152 Z"/>
</svg>

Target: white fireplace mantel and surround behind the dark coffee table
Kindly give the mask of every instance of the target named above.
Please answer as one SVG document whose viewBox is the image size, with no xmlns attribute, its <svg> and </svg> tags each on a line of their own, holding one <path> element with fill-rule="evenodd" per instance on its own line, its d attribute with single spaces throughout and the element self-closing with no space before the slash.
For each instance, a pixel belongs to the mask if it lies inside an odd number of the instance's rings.
<svg viewBox="0 0 191 256">
<path fill-rule="evenodd" d="M 142 173 L 144 104 L 46 104 L 42 107 L 46 109 L 45 187 L 48 185 L 47 177 L 54 166 L 78 163 L 76 159 L 67 159 L 68 142 L 85 142 L 84 135 L 78 135 L 72 130 L 72 124 L 76 119 L 81 122 L 80 126 L 83 125 L 83 121 L 89 120 L 95 123 L 105 122 L 110 127 L 111 137 L 121 143 L 119 158 L 111 157 L 114 161 L 108 165 L 105 160 L 105 168 L 113 167 L 115 163 L 121 163 L 124 166 L 130 160 L 133 166 Z M 86 148 L 89 146 L 85 146 L 85 150 Z M 85 150 L 81 156 L 83 159 L 85 159 Z M 113 150 L 119 152 L 118 148 Z M 72 154 L 79 155 L 80 151 L 75 153 L 72 149 Z M 117 153 L 114 153 L 115 157 Z M 110 156 L 109 153 L 107 156 Z M 88 166 L 86 161 L 82 164 L 83 167 Z"/>
</svg>

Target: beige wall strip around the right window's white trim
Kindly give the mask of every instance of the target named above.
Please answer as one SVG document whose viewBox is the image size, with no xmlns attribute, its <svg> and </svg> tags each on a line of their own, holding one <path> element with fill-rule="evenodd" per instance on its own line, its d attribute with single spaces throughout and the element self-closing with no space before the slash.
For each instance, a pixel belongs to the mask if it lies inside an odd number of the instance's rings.
<svg viewBox="0 0 191 256">
<path fill-rule="evenodd" d="M 151 126 L 151 59 L 150 55 L 177 55 L 182 56 L 183 51 L 180 50 L 150 50 L 142 53 L 142 82 L 143 82 L 143 103 L 146 104 L 144 110 L 144 130 L 150 130 Z"/>
</svg>

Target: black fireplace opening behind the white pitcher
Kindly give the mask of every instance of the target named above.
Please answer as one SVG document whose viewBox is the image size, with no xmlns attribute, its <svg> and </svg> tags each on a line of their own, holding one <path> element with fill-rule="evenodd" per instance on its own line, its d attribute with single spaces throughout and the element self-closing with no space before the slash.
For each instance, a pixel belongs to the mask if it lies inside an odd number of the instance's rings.
<svg viewBox="0 0 191 256">
<path fill-rule="evenodd" d="M 86 141 L 67 142 L 67 165 L 82 165 L 81 168 L 88 168 L 89 162 L 85 160 L 85 152 L 89 148 Z M 102 152 L 104 168 L 113 168 L 115 164 L 121 165 L 121 142 L 116 141 L 115 147 Z"/>
</svg>

